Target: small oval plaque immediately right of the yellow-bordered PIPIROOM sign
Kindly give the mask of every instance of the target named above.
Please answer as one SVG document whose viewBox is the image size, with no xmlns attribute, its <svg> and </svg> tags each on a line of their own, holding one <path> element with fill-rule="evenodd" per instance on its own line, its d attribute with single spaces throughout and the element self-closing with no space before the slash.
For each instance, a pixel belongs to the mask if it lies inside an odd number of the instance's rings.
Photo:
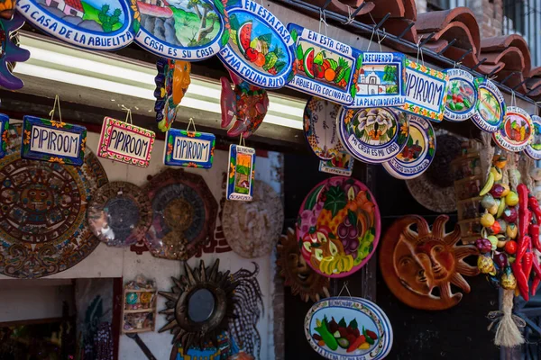
<svg viewBox="0 0 541 360">
<path fill-rule="evenodd" d="M 447 100 L 444 118 L 447 121 L 465 121 L 472 117 L 477 103 L 477 91 L 473 85 L 473 76 L 461 68 L 448 68 Z"/>
</svg>

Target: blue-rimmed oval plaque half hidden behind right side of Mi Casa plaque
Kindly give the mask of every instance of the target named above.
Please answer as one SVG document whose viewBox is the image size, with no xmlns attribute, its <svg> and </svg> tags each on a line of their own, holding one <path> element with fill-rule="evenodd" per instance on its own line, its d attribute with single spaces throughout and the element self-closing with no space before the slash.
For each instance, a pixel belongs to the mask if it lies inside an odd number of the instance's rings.
<svg viewBox="0 0 541 360">
<path fill-rule="evenodd" d="M 415 115 L 408 115 L 408 121 L 408 143 L 399 155 L 383 163 L 390 175 L 404 180 L 423 174 L 436 153 L 436 135 L 430 121 Z"/>
</svg>

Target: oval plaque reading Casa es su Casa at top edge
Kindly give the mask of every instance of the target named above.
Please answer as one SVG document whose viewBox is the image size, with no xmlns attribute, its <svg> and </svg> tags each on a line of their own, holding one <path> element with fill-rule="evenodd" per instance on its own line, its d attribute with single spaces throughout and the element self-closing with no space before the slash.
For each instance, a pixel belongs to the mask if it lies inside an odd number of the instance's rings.
<svg viewBox="0 0 541 360">
<path fill-rule="evenodd" d="M 137 0 L 135 42 L 154 54 L 197 61 L 214 56 L 222 47 L 224 16 L 212 0 Z M 219 6 L 223 9 L 221 1 Z M 135 24 L 138 22 L 139 24 Z"/>
</svg>

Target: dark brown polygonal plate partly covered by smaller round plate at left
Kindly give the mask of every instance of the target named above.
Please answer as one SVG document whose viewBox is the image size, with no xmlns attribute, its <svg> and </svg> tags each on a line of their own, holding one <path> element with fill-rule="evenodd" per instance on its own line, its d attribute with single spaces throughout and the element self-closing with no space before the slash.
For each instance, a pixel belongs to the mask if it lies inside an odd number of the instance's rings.
<svg viewBox="0 0 541 360">
<path fill-rule="evenodd" d="M 167 169 L 143 188 L 152 205 L 145 243 L 154 257 L 188 260 L 215 229 L 218 204 L 201 175 Z"/>
</svg>

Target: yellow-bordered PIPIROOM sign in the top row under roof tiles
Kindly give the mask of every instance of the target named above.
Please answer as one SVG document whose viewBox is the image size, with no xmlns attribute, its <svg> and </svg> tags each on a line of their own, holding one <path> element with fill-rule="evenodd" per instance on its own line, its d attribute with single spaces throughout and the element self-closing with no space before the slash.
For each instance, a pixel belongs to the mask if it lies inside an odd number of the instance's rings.
<svg viewBox="0 0 541 360">
<path fill-rule="evenodd" d="M 442 121 L 448 79 L 444 72 L 406 58 L 406 103 L 402 110 L 430 121 Z"/>
</svg>

